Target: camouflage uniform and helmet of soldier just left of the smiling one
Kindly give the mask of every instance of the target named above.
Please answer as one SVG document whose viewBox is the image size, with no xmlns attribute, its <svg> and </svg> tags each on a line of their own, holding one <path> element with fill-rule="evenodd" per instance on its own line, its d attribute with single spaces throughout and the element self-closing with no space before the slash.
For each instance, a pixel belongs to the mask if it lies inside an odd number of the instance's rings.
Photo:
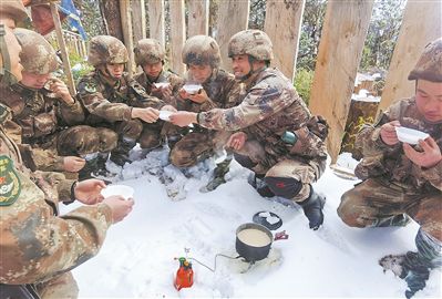
<svg viewBox="0 0 442 299">
<path fill-rule="evenodd" d="M 212 38 L 195 35 L 188 39 L 183 49 L 183 61 L 186 64 L 209 64 L 213 72 L 212 76 L 202 84 L 208 100 L 203 104 L 191 100 L 178 100 L 178 110 L 204 112 L 216 107 L 228 109 L 239 104 L 245 96 L 243 85 L 235 80 L 235 76 L 218 69 L 219 48 Z M 186 81 L 194 81 L 191 72 L 187 72 Z M 219 148 L 229 134 L 195 125 L 193 132 L 175 144 L 171 151 L 171 162 L 177 167 L 193 166 L 199 159 L 212 155 L 214 148 Z"/>
</svg>

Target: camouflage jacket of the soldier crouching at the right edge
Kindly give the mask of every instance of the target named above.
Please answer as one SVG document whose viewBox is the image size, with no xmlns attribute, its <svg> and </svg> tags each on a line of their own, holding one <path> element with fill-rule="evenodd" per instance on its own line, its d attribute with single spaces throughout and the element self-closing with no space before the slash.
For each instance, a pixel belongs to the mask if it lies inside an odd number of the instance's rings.
<svg viewBox="0 0 442 299">
<path fill-rule="evenodd" d="M 399 121 L 402 126 L 430 134 L 442 151 L 442 123 L 425 122 L 418 111 L 414 97 L 404 99 L 382 113 L 374 126 L 366 125 L 358 134 L 356 146 L 361 148 L 363 158 L 354 171 L 356 175 L 361 179 L 380 177 L 415 190 L 442 190 L 442 162 L 431 168 L 422 168 L 405 156 L 402 143 L 389 146 L 382 142 L 380 127 L 391 121 Z"/>
</svg>

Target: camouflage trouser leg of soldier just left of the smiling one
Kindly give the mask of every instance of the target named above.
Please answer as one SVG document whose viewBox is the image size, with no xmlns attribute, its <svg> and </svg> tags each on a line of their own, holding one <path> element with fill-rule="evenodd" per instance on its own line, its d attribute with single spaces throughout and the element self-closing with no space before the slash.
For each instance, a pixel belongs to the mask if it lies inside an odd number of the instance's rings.
<svg viewBox="0 0 442 299">
<path fill-rule="evenodd" d="M 171 163 L 176 167 L 193 166 L 219 151 L 230 135 L 232 132 L 226 131 L 191 132 L 172 148 Z"/>
</svg>

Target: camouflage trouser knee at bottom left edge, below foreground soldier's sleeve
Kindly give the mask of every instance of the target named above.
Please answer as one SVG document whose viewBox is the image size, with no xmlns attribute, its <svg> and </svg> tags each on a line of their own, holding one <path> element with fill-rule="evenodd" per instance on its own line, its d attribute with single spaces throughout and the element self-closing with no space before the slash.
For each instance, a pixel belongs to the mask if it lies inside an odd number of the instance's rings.
<svg viewBox="0 0 442 299">
<path fill-rule="evenodd" d="M 35 285 L 42 299 L 74 299 L 79 297 L 79 287 L 71 272 L 65 272 L 52 279 Z"/>
</svg>

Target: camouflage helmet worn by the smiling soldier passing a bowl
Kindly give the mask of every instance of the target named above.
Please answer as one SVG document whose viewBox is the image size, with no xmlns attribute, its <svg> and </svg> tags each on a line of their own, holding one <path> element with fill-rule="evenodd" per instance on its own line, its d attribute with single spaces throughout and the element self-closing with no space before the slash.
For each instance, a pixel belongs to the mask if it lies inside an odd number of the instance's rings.
<svg viewBox="0 0 442 299">
<path fill-rule="evenodd" d="M 257 60 L 273 60 L 274 45 L 269 37 L 260 30 L 243 30 L 230 38 L 228 56 L 247 54 Z"/>
</svg>

